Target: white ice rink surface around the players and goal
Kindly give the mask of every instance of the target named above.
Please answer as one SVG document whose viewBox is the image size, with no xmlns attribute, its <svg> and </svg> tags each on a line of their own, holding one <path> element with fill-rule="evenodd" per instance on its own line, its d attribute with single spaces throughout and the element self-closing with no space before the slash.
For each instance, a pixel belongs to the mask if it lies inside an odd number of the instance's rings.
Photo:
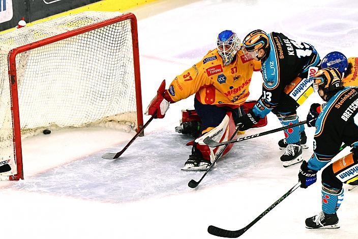
<svg viewBox="0 0 358 239">
<path fill-rule="evenodd" d="M 216 46 L 224 29 L 243 39 L 253 29 L 282 32 L 314 45 L 323 57 L 338 50 L 358 55 L 358 2 L 354 1 L 160 1 L 133 10 L 138 17 L 143 108 L 160 82 L 171 80 Z M 254 73 L 251 100 L 261 94 Z M 302 120 L 316 95 L 297 111 Z M 117 160 L 134 135 L 110 129 L 53 131 L 23 140 L 25 180 L 1 182 L 5 219 L 1 238 L 215 238 L 208 225 L 237 230 L 261 214 L 297 183 L 300 165 L 283 168 L 277 142 L 283 133 L 236 143 L 196 189 L 187 186 L 203 172 L 180 170 L 192 140 L 174 132 L 181 109 L 193 97 L 172 104 Z M 144 121 L 148 117 L 145 116 Z M 246 135 L 280 127 L 268 125 Z M 307 128 L 312 154 L 313 129 Z M 347 154 L 348 149 L 340 153 Z M 338 159 L 338 158 L 336 158 Z M 320 173 L 319 173 L 320 176 Z M 320 180 L 297 189 L 242 238 L 357 238 L 358 189 L 345 191 L 340 229 L 308 230 L 307 217 L 321 211 Z"/>
</svg>

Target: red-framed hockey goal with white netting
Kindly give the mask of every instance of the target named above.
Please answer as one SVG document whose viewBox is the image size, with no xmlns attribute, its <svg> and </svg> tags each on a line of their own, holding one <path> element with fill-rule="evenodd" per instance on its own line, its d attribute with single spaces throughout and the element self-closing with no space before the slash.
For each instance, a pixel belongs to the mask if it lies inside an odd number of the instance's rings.
<svg viewBox="0 0 358 239">
<path fill-rule="evenodd" d="M 0 180 L 23 179 L 21 137 L 143 126 L 137 20 L 82 12 L 0 35 Z"/>
</svg>

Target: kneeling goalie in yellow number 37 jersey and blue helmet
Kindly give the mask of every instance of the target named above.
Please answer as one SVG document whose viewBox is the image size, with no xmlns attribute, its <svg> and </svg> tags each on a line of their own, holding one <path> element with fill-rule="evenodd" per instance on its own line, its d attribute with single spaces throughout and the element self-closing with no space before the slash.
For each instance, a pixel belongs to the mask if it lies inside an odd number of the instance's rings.
<svg viewBox="0 0 358 239">
<path fill-rule="evenodd" d="M 177 127 L 177 132 L 195 136 L 205 134 L 215 140 L 228 140 L 235 132 L 235 122 L 242 115 L 240 107 L 249 97 L 249 84 L 253 71 L 261 69 L 260 62 L 247 58 L 241 48 L 240 39 L 231 31 L 219 34 L 217 48 L 209 51 L 203 59 L 175 79 L 165 89 L 165 80 L 157 96 L 147 107 L 145 114 L 163 118 L 174 103 L 195 94 L 193 114 L 198 121 L 188 121 Z M 190 116 L 191 115 L 191 116 Z M 198 124 L 200 122 L 200 125 Z M 206 170 L 221 148 L 213 152 L 201 143 L 202 137 L 193 145 L 192 153 L 183 170 Z M 229 151 L 229 145 L 223 155 Z"/>
</svg>

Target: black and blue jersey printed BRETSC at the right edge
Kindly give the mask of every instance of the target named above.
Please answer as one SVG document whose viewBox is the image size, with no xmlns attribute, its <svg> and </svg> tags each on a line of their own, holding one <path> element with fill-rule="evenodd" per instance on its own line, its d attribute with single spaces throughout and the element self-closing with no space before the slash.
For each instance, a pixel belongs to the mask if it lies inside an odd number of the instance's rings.
<svg viewBox="0 0 358 239">
<path fill-rule="evenodd" d="M 316 121 L 309 168 L 320 170 L 340 152 L 342 143 L 358 141 L 357 112 L 358 87 L 344 87 L 324 104 Z"/>
</svg>

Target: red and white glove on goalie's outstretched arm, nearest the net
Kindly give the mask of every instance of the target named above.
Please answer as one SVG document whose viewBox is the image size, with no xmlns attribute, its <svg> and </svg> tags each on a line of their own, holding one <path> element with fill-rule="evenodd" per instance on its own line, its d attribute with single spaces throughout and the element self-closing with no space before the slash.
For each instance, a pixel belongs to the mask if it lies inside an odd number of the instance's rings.
<svg viewBox="0 0 358 239">
<path fill-rule="evenodd" d="M 145 110 L 146 115 L 154 115 L 157 113 L 155 118 L 164 118 L 165 112 L 169 108 L 169 102 L 164 98 L 165 96 L 165 80 L 160 84 L 157 91 L 157 96 L 151 101 Z"/>
</svg>

